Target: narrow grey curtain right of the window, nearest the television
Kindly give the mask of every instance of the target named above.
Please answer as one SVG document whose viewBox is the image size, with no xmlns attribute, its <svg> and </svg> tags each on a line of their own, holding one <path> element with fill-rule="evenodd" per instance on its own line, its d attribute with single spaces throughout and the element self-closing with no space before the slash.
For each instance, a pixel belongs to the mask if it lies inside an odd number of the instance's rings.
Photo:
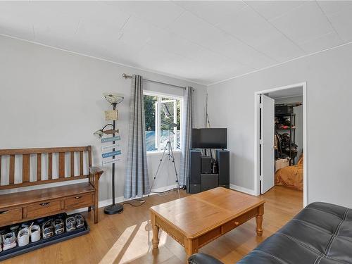
<svg viewBox="0 0 352 264">
<path fill-rule="evenodd" d="M 184 91 L 184 114 L 182 119 L 182 157 L 180 162 L 180 187 L 187 184 L 189 170 L 189 150 L 191 149 L 191 132 L 194 125 L 193 87 Z"/>
</svg>

